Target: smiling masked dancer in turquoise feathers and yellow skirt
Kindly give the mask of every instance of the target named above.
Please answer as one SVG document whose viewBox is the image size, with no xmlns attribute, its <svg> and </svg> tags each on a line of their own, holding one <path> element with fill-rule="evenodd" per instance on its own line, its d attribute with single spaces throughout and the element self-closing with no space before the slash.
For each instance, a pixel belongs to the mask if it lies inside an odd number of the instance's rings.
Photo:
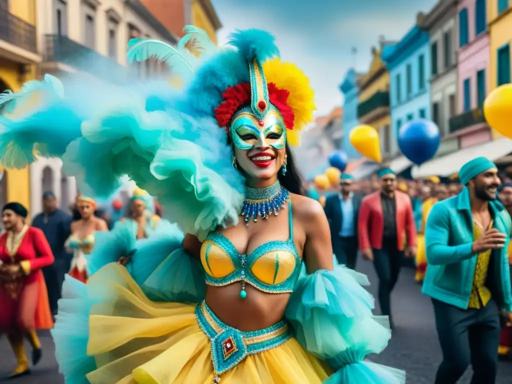
<svg viewBox="0 0 512 384">
<path fill-rule="evenodd" d="M 109 196 L 127 175 L 187 233 L 138 241 L 134 258 L 162 261 L 144 282 L 119 263 L 88 285 L 67 279 L 52 333 L 66 381 L 403 384 L 365 361 L 386 347 L 387 319 L 372 314 L 366 276 L 333 267 L 324 211 L 302 196 L 289 145 L 313 91 L 274 37 L 237 31 L 219 50 L 188 26 L 177 49 L 134 39 L 128 55 L 167 60 L 183 91 L 84 81 L 62 98 L 47 78 L 45 106 L 0 121 L 3 164 L 25 166 L 26 140 L 42 141 L 84 193 Z"/>
</svg>

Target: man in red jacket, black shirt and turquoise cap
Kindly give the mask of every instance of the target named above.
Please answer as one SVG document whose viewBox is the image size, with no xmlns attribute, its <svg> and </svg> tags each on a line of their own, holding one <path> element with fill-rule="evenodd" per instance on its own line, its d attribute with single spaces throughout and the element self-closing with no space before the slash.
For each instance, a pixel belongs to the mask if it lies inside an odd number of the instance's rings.
<svg viewBox="0 0 512 384">
<path fill-rule="evenodd" d="M 409 196 L 396 190 L 396 175 L 385 168 L 378 177 L 380 190 L 362 199 L 359 210 L 359 250 L 363 258 L 373 261 L 379 278 L 380 311 L 389 316 L 393 327 L 390 294 L 404 255 L 412 258 L 416 253 L 416 228 Z"/>
</svg>

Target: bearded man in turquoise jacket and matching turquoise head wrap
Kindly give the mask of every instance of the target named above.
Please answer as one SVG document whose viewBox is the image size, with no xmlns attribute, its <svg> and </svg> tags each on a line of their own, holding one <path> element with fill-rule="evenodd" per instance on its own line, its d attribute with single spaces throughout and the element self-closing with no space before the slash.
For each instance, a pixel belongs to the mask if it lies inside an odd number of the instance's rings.
<svg viewBox="0 0 512 384">
<path fill-rule="evenodd" d="M 512 319 L 507 246 L 510 216 L 496 200 L 496 165 L 479 157 L 460 168 L 462 192 L 436 203 L 425 228 L 432 297 L 443 361 L 436 384 L 455 384 L 473 366 L 472 384 L 493 384 L 501 314 Z"/>
</svg>

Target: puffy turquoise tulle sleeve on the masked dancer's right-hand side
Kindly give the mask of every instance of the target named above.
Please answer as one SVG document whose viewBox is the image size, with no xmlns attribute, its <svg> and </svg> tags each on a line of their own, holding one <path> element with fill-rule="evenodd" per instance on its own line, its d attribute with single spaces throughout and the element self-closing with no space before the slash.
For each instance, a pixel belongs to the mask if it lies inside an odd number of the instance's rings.
<svg viewBox="0 0 512 384">
<path fill-rule="evenodd" d="M 337 371 L 328 384 L 404 384 L 405 372 L 370 361 L 391 338 L 387 316 L 374 316 L 364 274 L 343 265 L 301 276 L 285 316 L 299 343 Z"/>
</svg>

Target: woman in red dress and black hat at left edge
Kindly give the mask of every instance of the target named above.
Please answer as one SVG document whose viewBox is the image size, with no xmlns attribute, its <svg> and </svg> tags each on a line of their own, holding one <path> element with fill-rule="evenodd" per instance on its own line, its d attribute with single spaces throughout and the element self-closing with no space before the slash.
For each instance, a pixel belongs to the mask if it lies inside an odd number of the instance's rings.
<svg viewBox="0 0 512 384">
<path fill-rule="evenodd" d="M 19 203 L 8 203 L 2 209 L 0 336 L 7 334 L 17 359 L 11 377 L 30 373 L 24 337 L 30 341 L 32 364 L 36 365 L 42 356 L 36 331 L 53 327 L 41 271 L 53 263 L 53 254 L 44 233 L 25 223 L 27 216 L 27 209 Z"/>
</svg>

